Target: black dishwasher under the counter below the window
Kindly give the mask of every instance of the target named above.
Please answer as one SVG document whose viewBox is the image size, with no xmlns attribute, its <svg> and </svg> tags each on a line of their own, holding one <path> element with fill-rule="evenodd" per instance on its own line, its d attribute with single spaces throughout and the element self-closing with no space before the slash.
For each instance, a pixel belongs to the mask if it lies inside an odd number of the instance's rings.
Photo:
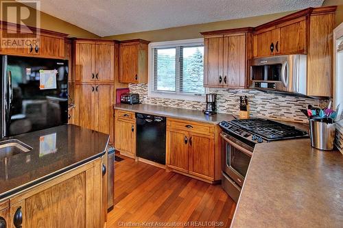
<svg viewBox="0 0 343 228">
<path fill-rule="evenodd" d="M 136 114 L 137 156 L 165 164 L 165 117 Z"/>
</svg>

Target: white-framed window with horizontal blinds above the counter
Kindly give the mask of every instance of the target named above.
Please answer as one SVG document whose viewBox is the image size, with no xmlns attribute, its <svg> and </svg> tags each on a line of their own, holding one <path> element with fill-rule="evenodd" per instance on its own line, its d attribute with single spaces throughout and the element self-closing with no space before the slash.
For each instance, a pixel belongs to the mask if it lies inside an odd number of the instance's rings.
<svg viewBox="0 0 343 228">
<path fill-rule="evenodd" d="M 204 101 L 204 40 L 149 45 L 149 96 Z"/>
</svg>

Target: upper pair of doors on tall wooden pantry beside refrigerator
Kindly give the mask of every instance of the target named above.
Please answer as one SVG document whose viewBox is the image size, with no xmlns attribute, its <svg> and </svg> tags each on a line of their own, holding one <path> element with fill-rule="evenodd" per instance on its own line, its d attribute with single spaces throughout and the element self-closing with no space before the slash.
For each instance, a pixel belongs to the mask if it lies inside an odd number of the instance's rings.
<svg viewBox="0 0 343 228">
<path fill-rule="evenodd" d="M 114 83 L 115 45 L 113 41 L 76 39 L 73 43 L 77 83 Z"/>
</svg>

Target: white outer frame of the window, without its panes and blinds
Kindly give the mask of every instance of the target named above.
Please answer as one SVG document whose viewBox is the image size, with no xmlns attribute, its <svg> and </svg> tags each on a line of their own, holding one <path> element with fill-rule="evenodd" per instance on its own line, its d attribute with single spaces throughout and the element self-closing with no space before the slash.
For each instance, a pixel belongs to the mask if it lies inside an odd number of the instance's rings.
<svg viewBox="0 0 343 228">
<path fill-rule="evenodd" d="M 187 101 L 205 101 L 205 94 L 209 92 L 208 88 L 205 88 L 204 94 L 186 94 L 167 91 L 154 91 L 154 48 L 168 48 L 168 47 L 193 47 L 204 46 L 204 38 L 196 38 L 189 40 L 173 40 L 163 42 L 150 42 L 148 52 L 148 85 L 147 85 L 147 97 L 165 98 L 165 99 L 182 99 Z M 177 61 L 177 60 L 176 60 Z M 176 72 L 178 73 L 178 69 Z M 176 82 L 178 84 L 178 82 Z"/>
</svg>

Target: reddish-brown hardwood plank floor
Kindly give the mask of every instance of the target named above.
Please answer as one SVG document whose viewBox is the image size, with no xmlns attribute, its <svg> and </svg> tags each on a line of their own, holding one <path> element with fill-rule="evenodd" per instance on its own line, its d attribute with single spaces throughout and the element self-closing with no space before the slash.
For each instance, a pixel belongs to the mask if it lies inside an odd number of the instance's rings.
<svg viewBox="0 0 343 228">
<path fill-rule="evenodd" d="M 236 204 L 220 185 L 123 158 L 115 162 L 115 208 L 107 227 L 230 226 Z"/>
</svg>

